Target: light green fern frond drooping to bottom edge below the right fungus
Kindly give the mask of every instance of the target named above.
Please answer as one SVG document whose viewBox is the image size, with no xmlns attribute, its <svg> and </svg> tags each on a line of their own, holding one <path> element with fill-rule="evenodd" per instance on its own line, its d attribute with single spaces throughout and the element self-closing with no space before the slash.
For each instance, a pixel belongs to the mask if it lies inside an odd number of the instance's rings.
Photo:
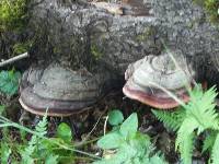
<svg viewBox="0 0 219 164">
<path fill-rule="evenodd" d="M 181 159 L 185 164 L 192 163 L 194 131 L 198 122 L 193 117 L 187 117 L 177 131 L 175 149 L 180 150 Z"/>
</svg>

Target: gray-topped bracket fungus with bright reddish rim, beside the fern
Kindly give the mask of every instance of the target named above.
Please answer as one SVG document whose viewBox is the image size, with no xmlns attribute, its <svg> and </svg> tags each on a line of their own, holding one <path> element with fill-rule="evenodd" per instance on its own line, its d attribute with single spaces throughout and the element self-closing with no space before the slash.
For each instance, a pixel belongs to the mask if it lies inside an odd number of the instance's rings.
<svg viewBox="0 0 219 164">
<path fill-rule="evenodd" d="M 180 56 L 177 56 L 178 58 Z M 168 55 L 147 56 L 130 65 L 125 73 L 127 80 L 123 92 L 126 96 L 155 108 L 169 109 L 178 103 L 162 89 L 176 95 L 181 101 L 189 99 L 185 86 L 191 86 L 193 71 L 188 71 L 183 58 L 174 60 Z"/>
</svg>

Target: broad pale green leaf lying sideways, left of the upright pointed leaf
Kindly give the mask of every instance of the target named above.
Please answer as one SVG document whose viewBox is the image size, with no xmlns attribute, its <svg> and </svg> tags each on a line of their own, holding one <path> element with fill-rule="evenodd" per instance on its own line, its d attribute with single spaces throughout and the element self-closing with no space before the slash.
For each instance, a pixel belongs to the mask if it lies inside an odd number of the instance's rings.
<svg viewBox="0 0 219 164">
<path fill-rule="evenodd" d="M 97 145 L 102 149 L 116 149 L 124 142 L 123 137 L 118 132 L 111 132 L 97 141 Z"/>
</svg>

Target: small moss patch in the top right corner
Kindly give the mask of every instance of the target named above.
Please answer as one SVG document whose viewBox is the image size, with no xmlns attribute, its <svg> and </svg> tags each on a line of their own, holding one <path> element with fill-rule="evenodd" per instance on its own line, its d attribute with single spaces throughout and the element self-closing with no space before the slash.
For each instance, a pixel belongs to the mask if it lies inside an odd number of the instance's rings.
<svg viewBox="0 0 219 164">
<path fill-rule="evenodd" d="M 204 7 L 209 15 L 209 20 L 219 25 L 219 0 L 194 0 L 194 2 Z"/>
</svg>

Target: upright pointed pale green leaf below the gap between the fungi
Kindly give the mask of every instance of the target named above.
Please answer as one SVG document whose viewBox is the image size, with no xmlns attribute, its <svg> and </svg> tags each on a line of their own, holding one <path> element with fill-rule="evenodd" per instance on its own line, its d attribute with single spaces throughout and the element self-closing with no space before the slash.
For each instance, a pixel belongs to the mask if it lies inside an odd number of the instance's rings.
<svg viewBox="0 0 219 164">
<path fill-rule="evenodd" d="M 124 138 L 135 136 L 138 130 L 138 117 L 137 114 L 131 114 L 120 126 L 120 133 Z"/>
</svg>

